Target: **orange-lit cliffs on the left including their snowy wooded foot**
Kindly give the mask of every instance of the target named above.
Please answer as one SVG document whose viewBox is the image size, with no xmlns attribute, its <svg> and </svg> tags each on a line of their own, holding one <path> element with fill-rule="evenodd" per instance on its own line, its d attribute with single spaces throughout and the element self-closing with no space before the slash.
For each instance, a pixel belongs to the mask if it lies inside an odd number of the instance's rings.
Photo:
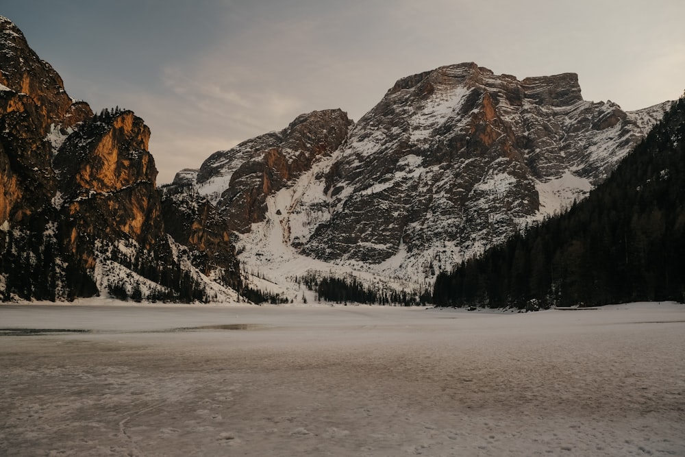
<svg viewBox="0 0 685 457">
<path fill-rule="evenodd" d="M 223 249 L 221 262 L 199 262 L 210 243 L 168 236 L 149 138 L 131 111 L 93 115 L 73 101 L 21 31 L 0 17 L 3 299 L 235 296 L 229 287 L 240 276 L 227 237 L 212 245 Z M 207 275 L 216 271 L 212 282 Z"/>
</svg>

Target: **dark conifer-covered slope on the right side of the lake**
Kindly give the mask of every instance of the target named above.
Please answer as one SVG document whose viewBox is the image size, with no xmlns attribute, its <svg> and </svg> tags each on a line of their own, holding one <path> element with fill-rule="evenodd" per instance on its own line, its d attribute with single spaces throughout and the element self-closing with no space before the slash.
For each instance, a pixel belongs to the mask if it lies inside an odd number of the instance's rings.
<svg viewBox="0 0 685 457">
<path fill-rule="evenodd" d="M 442 305 L 685 299 L 685 99 L 569 212 L 438 276 Z"/>
</svg>

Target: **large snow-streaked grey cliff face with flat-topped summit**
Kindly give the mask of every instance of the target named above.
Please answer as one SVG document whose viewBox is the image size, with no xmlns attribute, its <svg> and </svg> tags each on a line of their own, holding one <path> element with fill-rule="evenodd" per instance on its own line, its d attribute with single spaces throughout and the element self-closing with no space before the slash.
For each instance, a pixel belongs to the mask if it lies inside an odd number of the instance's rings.
<svg viewBox="0 0 685 457">
<path fill-rule="evenodd" d="M 584 101 L 573 73 L 519 81 L 470 63 L 400 79 L 340 149 L 332 211 L 303 253 L 449 269 L 584 197 L 644 134 Z"/>
</svg>

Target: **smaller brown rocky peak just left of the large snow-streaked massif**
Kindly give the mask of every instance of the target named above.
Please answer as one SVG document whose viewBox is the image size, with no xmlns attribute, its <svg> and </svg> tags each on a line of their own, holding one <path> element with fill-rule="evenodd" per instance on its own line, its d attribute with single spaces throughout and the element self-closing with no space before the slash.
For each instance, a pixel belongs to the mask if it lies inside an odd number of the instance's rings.
<svg viewBox="0 0 685 457">
<path fill-rule="evenodd" d="M 302 114 L 281 132 L 212 154 L 197 172 L 196 184 L 223 212 L 229 228 L 246 232 L 264 220 L 266 197 L 338 149 L 351 124 L 342 110 Z"/>
</svg>

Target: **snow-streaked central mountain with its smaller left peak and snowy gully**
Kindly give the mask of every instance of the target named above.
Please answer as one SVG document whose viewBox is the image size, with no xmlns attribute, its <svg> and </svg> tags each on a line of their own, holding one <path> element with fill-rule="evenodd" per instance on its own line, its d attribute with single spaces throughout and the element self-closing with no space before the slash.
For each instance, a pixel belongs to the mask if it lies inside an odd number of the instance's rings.
<svg viewBox="0 0 685 457">
<path fill-rule="evenodd" d="M 429 284 L 585 197 L 668 106 L 624 112 L 585 101 L 573 73 L 519 80 L 473 63 L 444 66 L 399 79 L 354 125 L 339 110 L 302 115 L 177 182 L 236 218 L 242 261 L 273 282 L 314 269 Z M 283 147 L 303 124 L 307 140 Z M 308 160 L 279 173 L 275 164 L 293 157 Z M 258 214 L 236 217 L 254 195 Z"/>
</svg>

